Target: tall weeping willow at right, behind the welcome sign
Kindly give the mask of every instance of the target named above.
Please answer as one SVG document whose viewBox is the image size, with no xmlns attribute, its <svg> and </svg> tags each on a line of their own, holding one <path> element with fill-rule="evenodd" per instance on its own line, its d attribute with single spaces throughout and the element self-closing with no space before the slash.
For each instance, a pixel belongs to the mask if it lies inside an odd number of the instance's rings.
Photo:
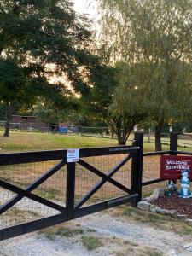
<svg viewBox="0 0 192 256">
<path fill-rule="evenodd" d="M 100 38 L 111 61 L 140 63 L 155 124 L 155 148 L 166 119 L 191 112 L 192 1 L 100 0 Z"/>
</svg>

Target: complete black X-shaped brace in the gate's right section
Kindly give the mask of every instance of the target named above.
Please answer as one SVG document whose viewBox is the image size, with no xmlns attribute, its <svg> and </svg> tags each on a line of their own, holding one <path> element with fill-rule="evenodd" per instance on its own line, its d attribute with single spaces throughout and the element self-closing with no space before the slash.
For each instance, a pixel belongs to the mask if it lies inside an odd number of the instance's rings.
<svg viewBox="0 0 192 256">
<path fill-rule="evenodd" d="M 79 165 L 84 166 L 86 169 L 88 169 L 90 172 L 94 172 L 96 175 L 102 177 L 102 180 L 98 183 L 96 183 L 96 185 L 90 189 L 90 191 L 84 195 L 81 200 L 78 202 L 78 204 L 75 206 L 75 209 L 78 209 L 79 207 L 81 207 L 86 201 L 88 201 L 90 199 L 90 196 L 94 195 L 96 193 L 96 191 L 98 189 L 100 189 L 102 187 L 102 185 L 106 182 L 112 183 L 113 185 L 115 185 L 116 187 L 118 187 L 121 190 L 124 190 L 126 193 L 131 193 L 131 189 L 126 188 L 124 185 L 118 183 L 117 181 L 115 181 L 113 178 L 111 178 L 115 172 L 118 172 L 119 169 L 125 165 L 125 163 L 130 160 L 132 157 L 131 154 L 129 154 L 128 156 L 125 157 L 124 160 L 122 160 L 121 162 L 119 162 L 119 164 L 117 166 L 115 166 L 110 172 L 108 172 L 107 174 L 100 172 L 99 170 L 97 170 L 94 166 L 90 166 L 90 164 L 84 162 L 84 160 L 79 160 Z"/>
</svg>

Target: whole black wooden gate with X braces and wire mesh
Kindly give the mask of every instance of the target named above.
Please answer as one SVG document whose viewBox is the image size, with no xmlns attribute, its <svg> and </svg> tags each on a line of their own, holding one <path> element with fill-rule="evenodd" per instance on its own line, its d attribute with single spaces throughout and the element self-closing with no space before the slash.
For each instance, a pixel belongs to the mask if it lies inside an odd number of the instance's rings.
<svg viewBox="0 0 192 256">
<path fill-rule="evenodd" d="M 141 160 L 142 150 L 137 146 L 81 148 L 79 161 L 73 163 L 67 163 L 67 150 L 1 154 L 0 240 L 129 201 L 137 203 L 141 198 Z M 50 166 L 48 162 L 52 166 L 43 172 L 42 166 Z M 102 191 L 107 184 L 113 189 L 107 186 Z"/>
</svg>

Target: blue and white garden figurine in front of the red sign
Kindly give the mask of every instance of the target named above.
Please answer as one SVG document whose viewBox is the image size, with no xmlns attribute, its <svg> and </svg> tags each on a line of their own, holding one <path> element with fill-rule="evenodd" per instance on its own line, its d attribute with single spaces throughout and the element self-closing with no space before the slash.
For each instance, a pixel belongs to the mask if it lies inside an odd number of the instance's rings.
<svg viewBox="0 0 192 256">
<path fill-rule="evenodd" d="M 180 179 L 181 189 L 178 193 L 179 197 L 182 198 L 189 198 L 192 197 L 191 192 L 189 190 L 189 170 L 183 170 L 182 172 L 182 178 Z"/>
</svg>

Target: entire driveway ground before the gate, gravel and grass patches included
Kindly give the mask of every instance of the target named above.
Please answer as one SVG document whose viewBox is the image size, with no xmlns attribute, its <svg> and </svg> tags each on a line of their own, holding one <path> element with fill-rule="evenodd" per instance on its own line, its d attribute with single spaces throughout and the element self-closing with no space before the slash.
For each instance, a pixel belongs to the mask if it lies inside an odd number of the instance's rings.
<svg viewBox="0 0 192 256">
<path fill-rule="evenodd" d="M 131 207 L 0 242 L 1 256 L 188 256 L 192 226 Z"/>
</svg>

